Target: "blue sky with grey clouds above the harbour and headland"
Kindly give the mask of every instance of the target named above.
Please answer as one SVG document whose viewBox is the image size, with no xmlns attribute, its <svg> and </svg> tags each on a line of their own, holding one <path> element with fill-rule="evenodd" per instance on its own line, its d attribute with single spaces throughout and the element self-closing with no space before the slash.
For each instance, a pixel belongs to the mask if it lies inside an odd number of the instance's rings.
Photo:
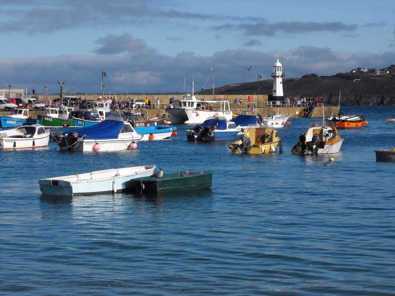
<svg viewBox="0 0 395 296">
<path fill-rule="evenodd" d="M 276 59 L 283 79 L 381 69 L 394 15 L 393 0 L 2 0 L 0 88 L 101 94 L 105 72 L 105 94 L 189 93 L 211 68 L 214 87 L 271 79 Z"/>
</svg>

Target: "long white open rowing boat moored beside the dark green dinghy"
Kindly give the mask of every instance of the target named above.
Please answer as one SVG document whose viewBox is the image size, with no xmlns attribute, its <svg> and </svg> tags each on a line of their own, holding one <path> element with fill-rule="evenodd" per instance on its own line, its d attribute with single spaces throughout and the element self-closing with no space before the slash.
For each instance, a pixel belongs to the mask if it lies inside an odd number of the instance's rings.
<svg viewBox="0 0 395 296">
<path fill-rule="evenodd" d="M 116 193 L 133 189 L 134 178 L 150 176 L 155 165 L 143 165 L 120 169 L 96 170 L 83 174 L 38 180 L 40 190 L 47 195 L 92 195 Z"/>
</svg>

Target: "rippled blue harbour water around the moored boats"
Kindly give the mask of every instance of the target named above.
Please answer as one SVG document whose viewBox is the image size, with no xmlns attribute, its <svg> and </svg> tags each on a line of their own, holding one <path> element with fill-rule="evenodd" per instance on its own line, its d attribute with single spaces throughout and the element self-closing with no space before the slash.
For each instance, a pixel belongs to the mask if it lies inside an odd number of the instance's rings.
<svg viewBox="0 0 395 296">
<path fill-rule="evenodd" d="M 279 129 L 284 152 L 230 142 L 141 142 L 136 150 L 0 151 L 1 295 L 394 295 L 395 107 L 340 130 L 335 155 L 293 155 L 311 119 Z M 329 157 L 335 161 L 329 162 Z M 214 171 L 209 190 L 54 198 L 38 179 L 155 164 Z"/>
</svg>

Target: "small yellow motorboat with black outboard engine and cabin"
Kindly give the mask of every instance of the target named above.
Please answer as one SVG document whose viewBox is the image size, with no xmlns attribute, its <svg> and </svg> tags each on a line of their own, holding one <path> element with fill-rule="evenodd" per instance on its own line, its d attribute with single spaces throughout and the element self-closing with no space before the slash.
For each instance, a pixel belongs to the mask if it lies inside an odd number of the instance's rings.
<svg viewBox="0 0 395 296">
<path fill-rule="evenodd" d="M 239 141 L 229 146 L 233 154 L 269 154 L 282 152 L 282 141 L 275 129 L 247 128 Z"/>
</svg>

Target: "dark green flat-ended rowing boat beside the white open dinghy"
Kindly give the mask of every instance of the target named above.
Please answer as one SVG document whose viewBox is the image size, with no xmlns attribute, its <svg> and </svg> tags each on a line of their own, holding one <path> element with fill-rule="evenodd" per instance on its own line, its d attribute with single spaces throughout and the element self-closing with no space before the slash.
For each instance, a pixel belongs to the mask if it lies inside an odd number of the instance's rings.
<svg viewBox="0 0 395 296">
<path fill-rule="evenodd" d="M 134 178 L 134 189 L 140 192 L 192 191 L 210 188 L 213 172 L 174 172 L 162 177 Z"/>
</svg>

